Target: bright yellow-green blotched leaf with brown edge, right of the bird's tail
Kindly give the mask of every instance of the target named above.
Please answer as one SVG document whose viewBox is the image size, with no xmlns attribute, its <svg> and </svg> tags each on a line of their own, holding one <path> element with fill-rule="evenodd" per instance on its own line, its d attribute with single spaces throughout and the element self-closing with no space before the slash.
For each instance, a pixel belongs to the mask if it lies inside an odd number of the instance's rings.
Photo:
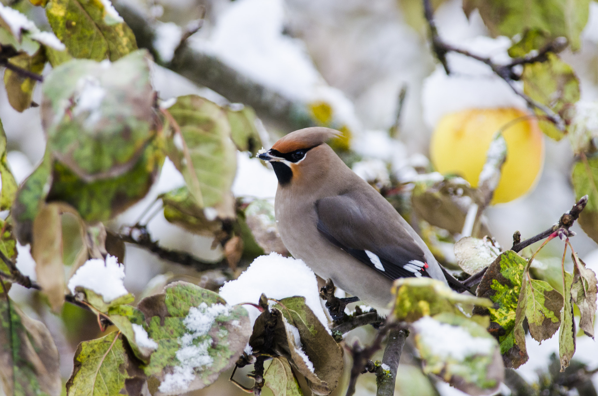
<svg viewBox="0 0 598 396">
<path fill-rule="evenodd" d="M 523 302 L 518 307 L 521 279 L 526 266 L 527 260 L 514 251 L 503 252 L 490 264 L 477 290 L 478 297 L 489 298 L 495 303 L 487 310 L 476 308 L 474 313 L 490 313 L 488 331 L 498 340 L 505 367 L 508 368 L 517 368 L 527 361 L 525 338 L 524 335 L 523 339 L 520 337 L 525 317 L 525 306 L 522 304 L 526 299 L 521 300 Z M 518 317 L 517 309 L 520 310 Z"/>
</svg>

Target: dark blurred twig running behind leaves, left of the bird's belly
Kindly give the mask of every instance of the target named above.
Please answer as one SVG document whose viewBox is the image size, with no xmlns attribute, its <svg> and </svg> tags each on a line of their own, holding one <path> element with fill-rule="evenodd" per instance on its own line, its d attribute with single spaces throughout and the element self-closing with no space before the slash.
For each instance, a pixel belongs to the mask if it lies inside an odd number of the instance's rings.
<svg viewBox="0 0 598 396">
<path fill-rule="evenodd" d="M 182 266 L 194 267 L 197 271 L 228 268 L 226 260 L 217 261 L 215 263 L 203 261 L 187 252 L 170 250 L 161 247 L 157 241 L 151 239 L 151 235 L 145 226 L 123 227 L 123 229 L 125 228 L 129 229 L 128 233 L 118 232 L 115 233 L 114 236 L 123 242 L 132 243 L 133 245 L 150 251 L 163 260 L 168 260 L 175 264 L 181 264 Z M 135 231 L 138 231 L 136 235 L 134 235 Z"/>
</svg>

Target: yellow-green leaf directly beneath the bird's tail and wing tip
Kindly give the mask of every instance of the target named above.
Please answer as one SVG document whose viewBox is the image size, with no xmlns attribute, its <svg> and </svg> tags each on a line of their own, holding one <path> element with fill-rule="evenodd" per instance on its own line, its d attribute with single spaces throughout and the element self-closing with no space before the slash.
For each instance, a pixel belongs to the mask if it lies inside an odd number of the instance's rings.
<svg viewBox="0 0 598 396">
<path fill-rule="evenodd" d="M 474 305 L 492 306 L 486 298 L 459 294 L 446 284 L 431 278 L 400 278 L 392 286 L 395 294 L 393 312 L 399 321 L 414 322 L 423 316 L 449 312 L 462 315 Z"/>
</svg>

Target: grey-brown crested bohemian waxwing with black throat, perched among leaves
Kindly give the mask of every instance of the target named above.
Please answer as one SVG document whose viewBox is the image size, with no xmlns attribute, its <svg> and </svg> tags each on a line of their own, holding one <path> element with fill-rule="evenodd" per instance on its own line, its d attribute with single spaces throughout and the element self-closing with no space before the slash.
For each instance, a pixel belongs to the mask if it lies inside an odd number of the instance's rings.
<svg viewBox="0 0 598 396">
<path fill-rule="evenodd" d="M 316 275 L 388 312 L 394 279 L 447 280 L 416 231 L 325 143 L 338 133 L 324 127 L 296 130 L 258 154 L 278 178 L 274 208 L 280 238 Z"/>
</svg>

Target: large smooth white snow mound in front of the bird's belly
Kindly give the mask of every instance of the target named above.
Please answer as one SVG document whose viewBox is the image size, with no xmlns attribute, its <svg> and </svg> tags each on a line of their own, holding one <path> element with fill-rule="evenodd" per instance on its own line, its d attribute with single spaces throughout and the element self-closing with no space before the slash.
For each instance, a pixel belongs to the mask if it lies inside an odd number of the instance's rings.
<svg viewBox="0 0 598 396">
<path fill-rule="evenodd" d="M 302 260 L 283 257 L 274 252 L 260 256 L 239 278 L 220 288 L 220 296 L 228 304 L 257 303 L 262 293 L 277 300 L 293 296 L 305 297 L 307 306 L 328 330 L 328 319 L 320 303 L 316 275 Z M 249 305 L 245 305 L 245 308 L 253 324 L 260 311 Z"/>
</svg>

